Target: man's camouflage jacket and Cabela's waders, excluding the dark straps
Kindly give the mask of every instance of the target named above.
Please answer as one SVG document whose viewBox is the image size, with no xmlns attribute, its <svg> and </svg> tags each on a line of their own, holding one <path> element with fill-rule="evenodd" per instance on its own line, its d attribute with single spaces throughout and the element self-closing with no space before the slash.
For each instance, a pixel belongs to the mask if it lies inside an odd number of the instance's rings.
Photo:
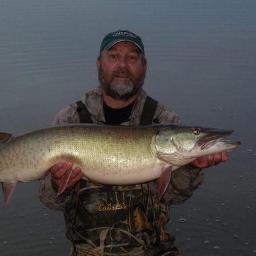
<svg viewBox="0 0 256 256">
<path fill-rule="evenodd" d="M 129 121 L 139 125 L 147 94 L 139 93 Z M 84 104 L 93 123 L 105 123 L 100 87 L 85 94 Z M 159 123 L 178 123 L 179 117 L 158 102 L 154 118 Z M 77 105 L 63 108 L 54 121 L 79 123 Z M 39 181 L 39 197 L 53 210 L 63 210 L 66 235 L 72 243 L 70 255 L 179 255 L 174 236 L 166 232 L 170 204 L 183 203 L 203 181 L 203 172 L 184 166 L 172 173 L 161 201 L 156 181 L 129 186 L 110 186 L 81 181 L 71 191 L 57 196 L 51 176 Z M 79 193 L 78 199 L 75 195 Z"/>
</svg>

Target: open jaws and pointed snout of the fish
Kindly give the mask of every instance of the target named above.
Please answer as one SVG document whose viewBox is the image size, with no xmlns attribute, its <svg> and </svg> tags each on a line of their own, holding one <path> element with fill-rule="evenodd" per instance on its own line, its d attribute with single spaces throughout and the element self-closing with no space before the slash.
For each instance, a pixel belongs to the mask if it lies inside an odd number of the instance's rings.
<svg viewBox="0 0 256 256">
<path fill-rule="evenodd" d="M 201 150 L 207 150 L 212 148 L 212 146 L 219 145 L 225 146 L 225 148 L 236 148 L 237 146 L 241 145 L 240 141 L 231 142 L 227 139 L 227 137 L 233 133 L 232 130 L 214 130 L 209 129 L 205 131 L 205 136 L 199 139 L 197 146 L 201 148 Z"/>
</svg>

